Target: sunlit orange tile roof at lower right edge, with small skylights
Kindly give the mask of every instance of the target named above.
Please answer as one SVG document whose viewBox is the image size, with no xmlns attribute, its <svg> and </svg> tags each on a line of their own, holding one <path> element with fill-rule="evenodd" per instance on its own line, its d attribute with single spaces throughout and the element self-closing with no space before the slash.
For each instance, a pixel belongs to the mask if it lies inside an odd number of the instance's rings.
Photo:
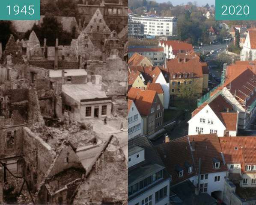
<svg viewBox="0 0 256 205">
<path fill-rule="evenodd" d="M 256 165 L 255 136 L 223 137 L 219 141 L 227 164 L 241 164 L 242 173 L 247 172 L 246 165 Z"/>
</svg>

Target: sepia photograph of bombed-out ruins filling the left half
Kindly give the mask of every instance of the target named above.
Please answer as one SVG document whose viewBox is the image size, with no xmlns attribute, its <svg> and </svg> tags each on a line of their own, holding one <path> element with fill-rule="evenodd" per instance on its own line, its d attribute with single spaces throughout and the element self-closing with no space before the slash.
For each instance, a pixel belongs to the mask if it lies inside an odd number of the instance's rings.
<svg viewBox="0 0 256 205">
<path fill-rule="evenodd" d="M 127 0 L 0 20 L 0 204 L 127 205 Z"/>
</svg>

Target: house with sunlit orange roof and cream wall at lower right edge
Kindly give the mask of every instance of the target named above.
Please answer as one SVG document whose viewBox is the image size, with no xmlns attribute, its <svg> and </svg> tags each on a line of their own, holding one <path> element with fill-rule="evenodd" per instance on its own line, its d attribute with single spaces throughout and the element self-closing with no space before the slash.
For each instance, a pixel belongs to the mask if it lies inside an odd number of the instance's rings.
<svg viewBox="0 0 256 205">
<path fill-rule="evenodd" d="M 219 138 L 228 179 L 240 187 L 256 187 L 256 137 Z"/>
</svg>

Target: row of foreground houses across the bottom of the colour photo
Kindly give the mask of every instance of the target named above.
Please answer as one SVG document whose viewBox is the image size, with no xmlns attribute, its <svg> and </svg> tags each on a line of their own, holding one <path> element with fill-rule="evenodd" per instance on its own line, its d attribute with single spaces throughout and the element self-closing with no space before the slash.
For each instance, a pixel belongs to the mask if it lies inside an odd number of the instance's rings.
<svg viewBox="0 0 256 205">
<path fill-rule="evenodd" d="M 229 186 L 256 187 L 255 137 L 189 135 L 153 146 L 143 135 L 128 143 L 131 205 L 242 204 Z"/>
</svg>

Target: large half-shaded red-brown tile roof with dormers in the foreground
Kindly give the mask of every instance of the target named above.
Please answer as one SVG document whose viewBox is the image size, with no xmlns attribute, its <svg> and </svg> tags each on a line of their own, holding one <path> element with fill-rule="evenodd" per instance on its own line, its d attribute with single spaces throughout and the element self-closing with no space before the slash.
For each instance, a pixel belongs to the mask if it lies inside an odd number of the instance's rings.
<svg viewBox="0 0 256 205">
<path fill-rule="evenodd" d="M 195 144 L 195 151 L 191 151 L 191 143 Z M 164 165 L 172 175 L 172 184 L 179 183 L 198 173 L 199 158 L 201 158 L 201 172 L 215 173 L 226 171 L 226 166 L 221 157 L 220 142 L 216 134 L 208 135 L 190 135 L 160 144 L 156 149 L 161 156 Z M 220 169 L 213 168 L 212 159 L 217 158 L 220 161 Z M 193 173 L 188 174 L 185 163 L 193 166 Z M 179 165 L 184 170 L 184 176 L 179 177 L 175 167 Z"/>
</svg>

